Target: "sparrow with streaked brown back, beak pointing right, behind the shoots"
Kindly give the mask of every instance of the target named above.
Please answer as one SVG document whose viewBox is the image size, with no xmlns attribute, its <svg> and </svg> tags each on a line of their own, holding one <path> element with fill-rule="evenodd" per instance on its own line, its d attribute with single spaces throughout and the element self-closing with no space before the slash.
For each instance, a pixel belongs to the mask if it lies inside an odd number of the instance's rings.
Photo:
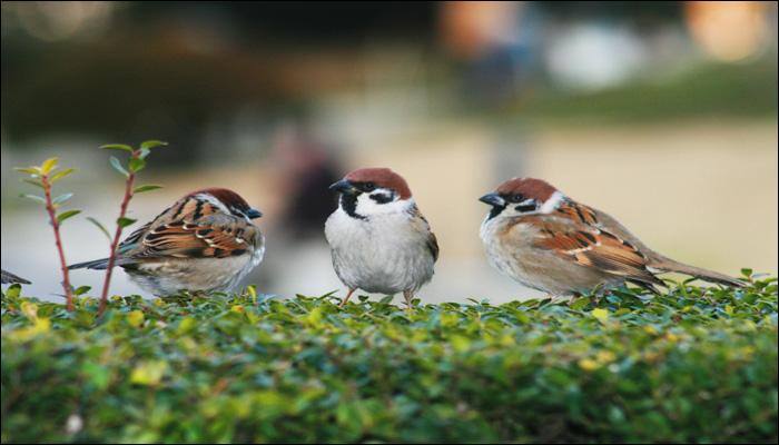
<svg viewBox="0 0 779 445">
<path fill-rule="evenodd" d="M 235 191 L 193 191 L 141 226 L 117 249 L 116 265 L 156 296 L 229 291 L 263 259 L 263 216 Z M 108 258 L 70 269 L 106 269 Z"/>
</svg>

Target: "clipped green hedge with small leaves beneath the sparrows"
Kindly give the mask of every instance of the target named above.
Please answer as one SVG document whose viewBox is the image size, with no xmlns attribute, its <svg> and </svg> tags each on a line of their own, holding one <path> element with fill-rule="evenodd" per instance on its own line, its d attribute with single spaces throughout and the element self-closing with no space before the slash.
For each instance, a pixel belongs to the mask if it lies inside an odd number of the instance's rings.
<svg viewBox="0 0 779 445">
<path fill-rule="evenodd" d="M 2 298 L 2 442 L 777 442 L 777 285 L 339 309 Z"/>
</svg>

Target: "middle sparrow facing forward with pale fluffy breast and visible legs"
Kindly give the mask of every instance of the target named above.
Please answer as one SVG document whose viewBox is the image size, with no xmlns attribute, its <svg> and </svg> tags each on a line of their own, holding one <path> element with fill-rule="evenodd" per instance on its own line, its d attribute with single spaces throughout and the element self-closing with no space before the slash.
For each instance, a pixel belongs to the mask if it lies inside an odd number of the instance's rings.
<svg viewBox="0 0 779 445">
<path fill-rule="evenodd" d="M 333 268 L 348 287 L 393 295 L 408 307 L 433 277 L 438 243 L 412 197 L 406 180 L 388 168 L 362 168 L 329 187 L 338 208 L 325 222 Z"/>
</svg>

